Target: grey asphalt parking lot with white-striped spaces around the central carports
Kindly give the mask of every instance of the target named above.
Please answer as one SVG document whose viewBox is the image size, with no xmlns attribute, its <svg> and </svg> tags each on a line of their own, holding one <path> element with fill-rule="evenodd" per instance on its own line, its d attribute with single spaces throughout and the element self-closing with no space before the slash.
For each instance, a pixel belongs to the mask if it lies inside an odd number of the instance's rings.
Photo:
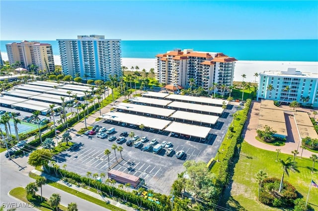
<svg viewBox="0 0 318 211">
<path fill-rule="evenodd" d="M 152 151 L 142 151 L 141 147 L 136 149 L 129 147 L 124 143 L 117 144 L 115 141 L 110 142 L 108 139 L 97 138 L 96 135 L 78 135 L 76 131 L 70 131 L 76 134 L 74 142 L 80 143 L 80 147 L 76 151 L 67 151 L 58 157 L 59 165 L 67 164 L 67 169 L 86 176 L 86 172 L 107 173 L 108 166 L 112 169 L 123 171 L 131 175 L 139 176 L 145 179 L 146 186 L 156 192 L 169 194 L 173 181 L 177 178 L 177 173 L 184 170 L 183 162 L 185 160 L 202 160 L 208 162 L 215 157 L 217 150 L 221 146 L 223 137 L 227 132 L 232 117 L 231 114 L 236 111 L 236 107 L 226 110 L 226 114 L 222 116 L 217 124 L 211 128 L 209 136 L 205 140 L 199 138 L 175 137 L 167 131 L 160 132 L 158 130 L 150 131 L 149 128 L 143 132 L 138 126 L 131 127 L 129 125 L 122 126 L 117 122 L 107 122 L 100 120 L 96 122 L 99 126 L 106 128 L 114 127 L 115 132 L 111 135 L 118 137 L 123 131 L 128 134 L 133 131 L 135 135 L 147 136 L 148 140 L 157 139 L 159 143 L 162 141 L 172 142 L 175 151 L 183 150 L 185 155 L 178 159 L 175 152 L 170 157 L 165 156 L 165 150 L 161 150 L 159 154 Z M 129 136 L 127 140 L 131 139 Z M 144 143 L 144 145 L 150 141 Z M 123 147 L 123 151 L 116 151 L 117 159 L 120 161 L 117 165 L 114 151 L 111 149 L 113 144 Z M 104 151 L 109 149 L 111 154 L 108 158 L 104 155 Z M 164 184 L 164 185 L 162 185 Z"/>
</svg>

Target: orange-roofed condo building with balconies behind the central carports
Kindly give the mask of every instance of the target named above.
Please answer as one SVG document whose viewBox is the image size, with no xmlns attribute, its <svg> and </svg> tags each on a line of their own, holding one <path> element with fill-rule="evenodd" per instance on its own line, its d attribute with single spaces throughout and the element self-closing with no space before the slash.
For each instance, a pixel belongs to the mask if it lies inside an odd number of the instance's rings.
<svg viewBox="0 0 318 211">
<path fill-rule="evenodd" d="M 163 84 L 190 87 L 193 78 L 198 87 L 209 92 L 213 83 L 233 85 L 236 58 L 223 53 L 195 52 L 192 49 L 157 54 L 157 79 Z M 221 90 L 218 91 L 221 94 Z"/>
</svg>

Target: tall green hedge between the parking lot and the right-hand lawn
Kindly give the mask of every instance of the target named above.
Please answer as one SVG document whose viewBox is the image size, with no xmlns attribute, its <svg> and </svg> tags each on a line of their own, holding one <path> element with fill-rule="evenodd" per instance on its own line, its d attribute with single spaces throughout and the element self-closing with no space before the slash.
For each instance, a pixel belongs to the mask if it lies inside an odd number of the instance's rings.
<svg viewBox="0 0 318 211">
<path fill-rule="evenodd" d="M 221 161 L 220 170 L 219 170 L 219 173 L 217 175 L 217 180 L 216 180 L 216 192 L 215 192 L 215 196 L 213 196 L 213 199 L 212 199 L 212 200 L 215 200 L 214 203 L 218 203 L 219 200 L 222 198 L 223 189 L 225 188 L 225 186 L 229 182 L 230 172 L 232 171 L 231 168 L 233 168 L 233 164 L 232 164 L 233 157 L 234 157 L 236 151 L 238 150 L 237 144 L 241 143 L 241 141 L 242 141 L 241 134 L 242 134 L 242 130 L 243 130 L 245 121 L 247 119 L 247 113 L 248 113 L 250 104 L 251 104 L 251 100 L 247 99 L 244 109 L 242 111 L 240 111 L 240 112 L 243 112 L 243 115 L 240 118 L 239 126 L 237 126 L 236 133 L 234 133 L 234 135 L 231 139 L 231 143 L 230 143 L 230 146 L 227 150 L 227 153 L 226 153 L 224 159 Z"/>
</svg>

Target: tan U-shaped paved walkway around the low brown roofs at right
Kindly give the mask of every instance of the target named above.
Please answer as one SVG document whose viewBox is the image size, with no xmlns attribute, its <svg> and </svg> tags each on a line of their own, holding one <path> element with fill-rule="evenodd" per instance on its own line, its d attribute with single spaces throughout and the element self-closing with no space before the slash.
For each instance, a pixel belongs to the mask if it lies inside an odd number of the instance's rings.
<svg viewBox="0 0 318 211">
<path fill-rule="evenodd" d="M 282 107 L 285 107 L 285 106 L 282 106 Z M 288 106 L 286 107 L 286 109 L 290 110 L 290 107 Z M 310 109 L 305 109 L 305 108 L 298 108 L 297 110 L 310 112 Z M 248 144 L 257 148 L 273 151 L 273 152 L 276 152 L 276 149 L 280 149 L 281 153 L 285 153 L 289 155 L 293 155 L 291 152 L 298 149 L 298 152 L 300 153 L 298 157 L 300 157 L 302 153 L 302 149 L 299 147 L 301 146 L 301 140 L 300 140 L 300 137 L 298 136 L 298 131 L 296 129 L 294 116 L 287 113 L 285 114 L 288 138 L 286 140 L 286 144 L 284 146 L 279 147 L 279 146 L 265 144 L 255 139 L 255 137 L 257 136 L 256 130 L 257 130 L 259 111 L 260 111 L 260 102 L 252 102 L 251 110 L 247 116 L 246 124 L 244 126 L 243 133 L 242 133 L 244 140 Z M 314 117 L 314 116 L 311 116 L 311 117 Z M 311 151 L 304 150 L 302 157 L 309 158 L 313 154 L 316 154 L 318 156 L 318 153 L 313 153 Z"/>
</svg>

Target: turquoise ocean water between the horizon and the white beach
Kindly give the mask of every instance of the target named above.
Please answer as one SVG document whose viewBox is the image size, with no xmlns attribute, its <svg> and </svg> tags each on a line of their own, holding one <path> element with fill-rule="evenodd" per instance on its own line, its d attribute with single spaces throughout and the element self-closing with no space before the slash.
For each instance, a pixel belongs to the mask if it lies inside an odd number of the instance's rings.
<svg viewBox="0 0 318 211">
<path fill-rule="evenodd" d="M 11 42 L 20 41 L 0 41 L 1 52 L 5 53 L 5 44 Z M 39 42 L 51 44 L 53 54 L 59 55 L 57 41 Z M 123 58 L 155 58 L 158 53 L 174 49 L 222 52 L 239 60 L 318 61 L 318 40 L 122 41 Z"/>
</svg>

